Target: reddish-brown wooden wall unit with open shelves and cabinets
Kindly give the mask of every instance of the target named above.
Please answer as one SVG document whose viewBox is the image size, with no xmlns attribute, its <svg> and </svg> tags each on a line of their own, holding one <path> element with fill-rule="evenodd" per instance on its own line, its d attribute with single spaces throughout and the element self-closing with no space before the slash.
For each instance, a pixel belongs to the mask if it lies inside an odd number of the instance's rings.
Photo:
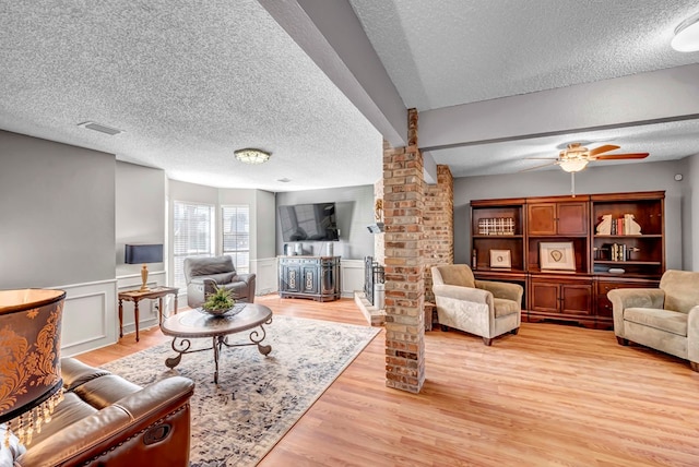
<svg viewBox="0 0 699 467">
<path fill-rule="evenodd" d="M 611 328 L 606 292 L 655 287 L 665 271 L 664 197 L 652 191 L 472 201 L 474 274 L 521 284 L 525 320 Z M 500 258 L 511 261 L 493 263 Z"/>
</svg>

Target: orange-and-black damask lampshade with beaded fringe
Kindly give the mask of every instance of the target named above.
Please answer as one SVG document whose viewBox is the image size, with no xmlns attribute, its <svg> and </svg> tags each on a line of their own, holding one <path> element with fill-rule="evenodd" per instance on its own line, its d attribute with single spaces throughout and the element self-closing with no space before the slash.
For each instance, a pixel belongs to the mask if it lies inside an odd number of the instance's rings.
<svg viewBox="0 0 699 467">
<path fill-rule="evenodd" d="M 0 290 L 0 423 L 23 444 L 63 398 L 60 347 L 63 290 Z"/>
</svg>

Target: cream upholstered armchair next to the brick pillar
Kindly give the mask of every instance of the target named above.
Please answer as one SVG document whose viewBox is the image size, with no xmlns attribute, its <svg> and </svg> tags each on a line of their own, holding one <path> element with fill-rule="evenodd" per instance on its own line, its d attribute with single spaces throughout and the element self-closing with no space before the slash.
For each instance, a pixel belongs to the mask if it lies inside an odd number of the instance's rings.
<svg viewBox="0 0 699 467">
<path fill-rule="evenodd" d="M 475 334 L 486 346 L 501 334 L 518 333 L 524 292 L 520 285 L 476 280 L 465 264 L 434 266 L 431 272 L 442 330 L 455 327 Z"/>
</svg>

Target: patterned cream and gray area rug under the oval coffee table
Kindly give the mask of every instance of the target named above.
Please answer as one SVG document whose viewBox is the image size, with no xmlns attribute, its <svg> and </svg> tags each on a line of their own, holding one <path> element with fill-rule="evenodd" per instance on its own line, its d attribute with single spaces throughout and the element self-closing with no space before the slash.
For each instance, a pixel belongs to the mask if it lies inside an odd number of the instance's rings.
<svg viewBox="0 0 699 467">
<path fill-rule="evenodd" d="M 253 466 L 379 333 L 379 328 L 291 316 L 265 325 L 264 357 L 257 346 L 226 348 L 213 383 L 213 350 L 187 354 L 169 370 L 170 342 L 103 368 L 145 386 L 179 374 L 196 382 L 191 398 L 192 467 Z M 249 333 L 229 342 L 249 342 Z M 192 339 L 200 347 L 210 339 Z"/>
</svg>

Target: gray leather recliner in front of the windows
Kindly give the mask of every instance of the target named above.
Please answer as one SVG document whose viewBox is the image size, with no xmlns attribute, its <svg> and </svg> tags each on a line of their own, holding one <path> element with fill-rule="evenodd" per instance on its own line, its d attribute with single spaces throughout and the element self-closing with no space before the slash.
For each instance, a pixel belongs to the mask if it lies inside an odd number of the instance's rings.
<svg viewBox="0 0 699 467">
<path fill-rule="evenodd" d="M 238 274 L 228 255 L 185 259 L 185 280 L 187 283 L 187 304 L 201 307 L 205 297 L 216 287 L 233 291 L 236 300 L 254 301 L 254 274 Z"/>
</svg>

